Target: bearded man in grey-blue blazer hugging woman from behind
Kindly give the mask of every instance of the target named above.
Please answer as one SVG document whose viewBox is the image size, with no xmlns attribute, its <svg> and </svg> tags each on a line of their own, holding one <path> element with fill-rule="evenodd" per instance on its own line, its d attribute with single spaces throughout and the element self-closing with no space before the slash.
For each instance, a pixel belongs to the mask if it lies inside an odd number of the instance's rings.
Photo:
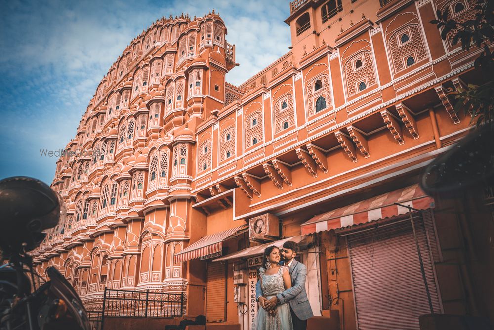
<svg viewBox="0 0 494 330">
<path fill-rule="evenodd" d="M 288 267 L 291 276 L 291 288 L 278 294 L 278 296 L 267 300 L 262 296 L 262 290 L 259 282 L 255 287 L 257 301 L 265 310 L 271 310 L 278 304 L 288 302 L 290 304 L 291 320 L 294 330 L 306 330 L 307 319 L 313 316 L 312 308 L 305 291 L 305 279 L 307 277 L 307 267 L 295 260 L 299 251 L 298 244 L 293 241 L 287 241 L 280 249 L 284 265 Z"/>
</svg>

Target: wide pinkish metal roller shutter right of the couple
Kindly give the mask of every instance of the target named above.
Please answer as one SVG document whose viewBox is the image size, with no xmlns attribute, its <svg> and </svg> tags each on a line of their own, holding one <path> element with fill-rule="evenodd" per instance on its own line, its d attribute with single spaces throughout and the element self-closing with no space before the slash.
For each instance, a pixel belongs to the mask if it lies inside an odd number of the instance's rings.
<svg viewBox="0 0 494 330">
<path fill-rule="evenodd" d="M 440 313 L 428 244 L 435 236 L 429 230 L 426 235 L 420 217 L 414 223 L 433 309 Z M 430 245 L 437 248 L 435 241 Z M 348 248 L 358 329 L 418 330 L 418 316 L 430 308 L 410 220 L 350 235 Z"/>
</svg>

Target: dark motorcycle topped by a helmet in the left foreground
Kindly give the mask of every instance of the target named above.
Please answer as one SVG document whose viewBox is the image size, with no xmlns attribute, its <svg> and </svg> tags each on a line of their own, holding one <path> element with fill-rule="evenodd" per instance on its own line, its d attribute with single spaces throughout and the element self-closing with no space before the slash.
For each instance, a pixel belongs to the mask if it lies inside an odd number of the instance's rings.
<svg viewBox="0 0 494 330">
<path fill-rule="evenodd" d="M 37 287 L 28 254 L 46 237 L 43 231 L 65 217 L 60 195 L 28 177 L 0 181 L 0 330 L 90 330 L 77 292 L 55 267 Z"/>
</svg>

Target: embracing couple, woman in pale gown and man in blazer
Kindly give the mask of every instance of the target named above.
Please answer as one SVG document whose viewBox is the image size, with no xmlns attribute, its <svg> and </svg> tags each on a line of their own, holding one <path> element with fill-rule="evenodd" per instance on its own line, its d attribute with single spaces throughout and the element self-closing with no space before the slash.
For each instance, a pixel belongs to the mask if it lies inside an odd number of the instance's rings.
<svg viewBox="0 0 494 330">
<path fill-rule="evenodd" d="M 307 267 L 295 260 L 297 243 L 288 241 L 280 249 L 264 250 L 260 280 L 255 286 L 262 308 L 254 320 L 254 330 L 306 330 L 313 316 L 305 291 Z"/>
</svg>

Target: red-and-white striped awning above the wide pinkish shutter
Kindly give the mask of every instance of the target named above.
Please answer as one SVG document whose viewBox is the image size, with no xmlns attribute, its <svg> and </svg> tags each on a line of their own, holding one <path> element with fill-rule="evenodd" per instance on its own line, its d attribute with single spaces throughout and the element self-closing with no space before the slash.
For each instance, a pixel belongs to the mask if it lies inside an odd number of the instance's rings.
<svg viewBox="0 0 494 330">
<path fill-rule="evenodd" d="M 316 215 L 302 224 L 302 234 L 353 226 L 409 212 L 408 208 L 394 203 L 419 210 L 434 207 L 434 199 L 420 189 L 418 184 L 415 184 Z"/>
</svg>

